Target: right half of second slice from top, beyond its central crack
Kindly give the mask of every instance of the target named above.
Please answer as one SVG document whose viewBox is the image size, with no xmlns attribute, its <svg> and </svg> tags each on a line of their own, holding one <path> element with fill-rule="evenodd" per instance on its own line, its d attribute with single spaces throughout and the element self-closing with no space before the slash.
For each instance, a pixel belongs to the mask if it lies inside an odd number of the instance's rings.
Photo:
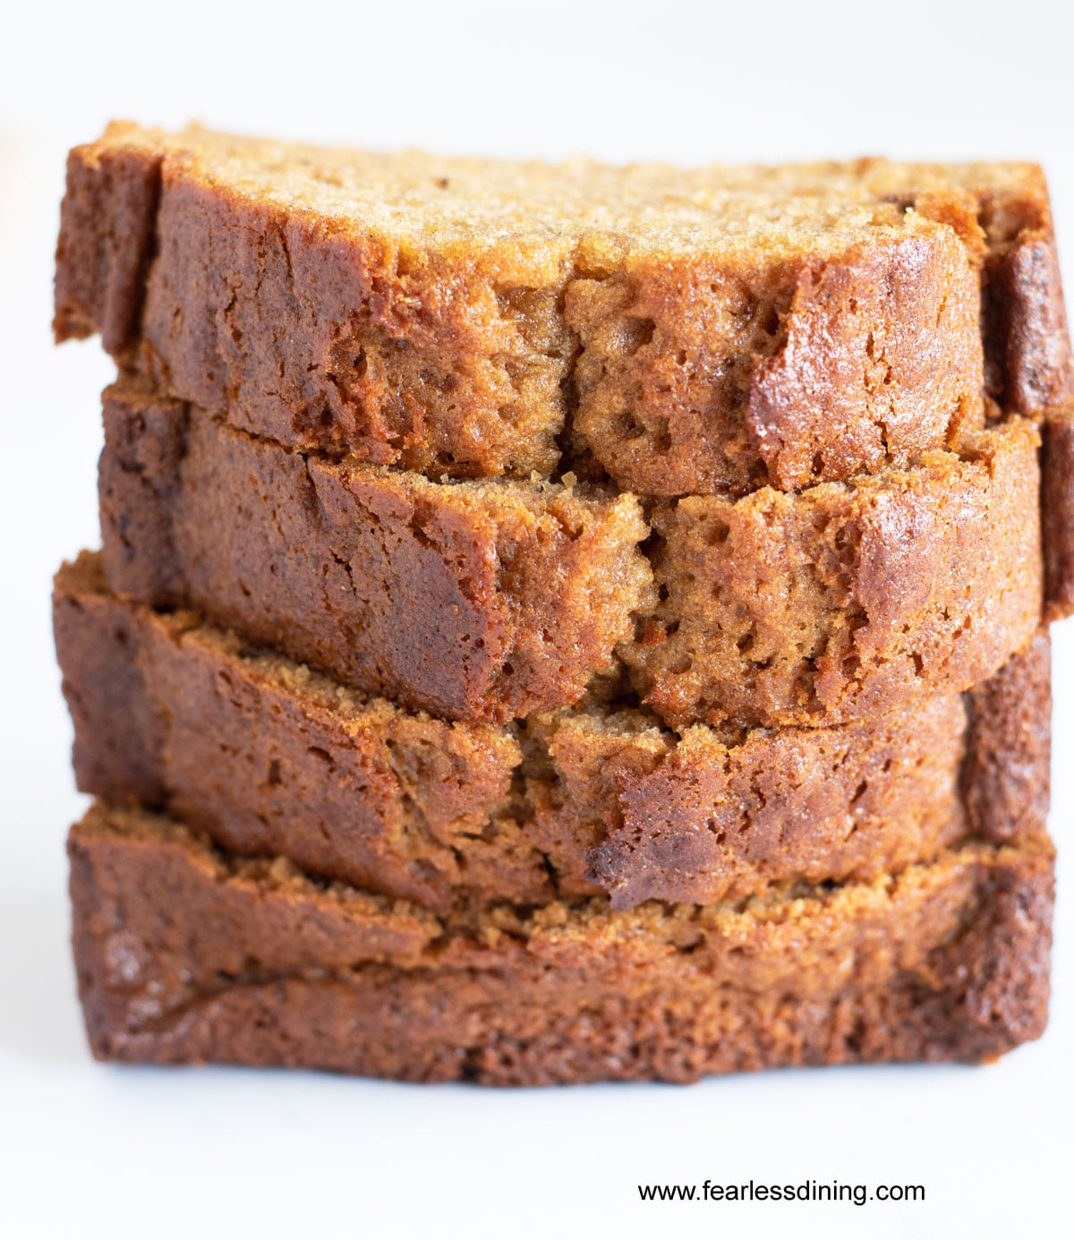
<svg viewBox="0 0 1074 1240">
<path fill-rule="evenodd" d="M 1013 419 L 909 471 L 659 505 L 661 601 L 620 644 L 672 724 L 831 724 L 991 676 L 1042 609 L 1038 435 Z"/>
</svg>

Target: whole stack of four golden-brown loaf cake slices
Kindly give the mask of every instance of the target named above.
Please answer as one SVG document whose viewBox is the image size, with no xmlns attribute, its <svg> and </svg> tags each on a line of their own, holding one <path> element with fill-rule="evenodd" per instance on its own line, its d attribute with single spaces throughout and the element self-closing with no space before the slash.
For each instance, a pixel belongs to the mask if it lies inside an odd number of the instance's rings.
<svg viewBox="0 0 1074 1240">
<path fill-rule="evenodd" d="M 102 1059 L 683 1081 L 1044 1027 L 1072 363 L 1031 165 L 71 155 Z"/>
</svg>

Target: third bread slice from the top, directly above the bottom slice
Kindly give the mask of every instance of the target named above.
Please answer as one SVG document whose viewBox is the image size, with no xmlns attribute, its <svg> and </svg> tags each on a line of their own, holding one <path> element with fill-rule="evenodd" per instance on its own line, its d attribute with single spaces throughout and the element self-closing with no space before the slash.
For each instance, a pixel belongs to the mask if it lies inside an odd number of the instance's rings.
<svg viewBox="0 0 1074 1240">
<path fill-rule="evenodd" d="M 53 615 L 83 791 L 439 911 L 601 890 L 709 904 L 1044 831 L 1047 639 L 970 696 L 969 734 L 961 698 L 938 694 L 724 743 L 595 708 L 444 723 L 123 603 L 89 556 L 61 572 Z"/>
</svg>

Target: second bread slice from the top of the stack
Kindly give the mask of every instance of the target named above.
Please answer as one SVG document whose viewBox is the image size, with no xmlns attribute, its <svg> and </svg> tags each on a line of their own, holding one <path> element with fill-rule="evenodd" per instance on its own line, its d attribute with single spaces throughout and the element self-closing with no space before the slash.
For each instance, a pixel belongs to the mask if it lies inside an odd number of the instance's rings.
<svg viewBox="0 0 1074 1240">
<path fill-rule="evenodd" d="M 573 706 L 629 670 L 676 727 L 867 719 L 980 683 L 1041 622 L 1039 434 L 1021 418 L 910 470 L 647 521 L 580 484 L 286 451 L 138 381 L 105 393 L 104 422 L 113 589 L 450 718 Z"/>
</svg>

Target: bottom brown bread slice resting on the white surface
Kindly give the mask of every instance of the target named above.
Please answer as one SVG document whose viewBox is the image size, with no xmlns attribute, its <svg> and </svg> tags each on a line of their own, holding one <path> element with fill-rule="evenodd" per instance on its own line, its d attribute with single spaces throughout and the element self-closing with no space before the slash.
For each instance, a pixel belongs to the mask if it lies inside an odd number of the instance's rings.
<svg viewBox="0 0 1074 1240">
<path fill-rule="evenodd" d="M 987 1060 L 1047 1019 L 1045 838 L 709 906 L 593 898 L 443 915 L 221 852 L 136 810 L 95 806 L 68 851 L 99 1059 L 688 1081 Z"/>
</svg>

